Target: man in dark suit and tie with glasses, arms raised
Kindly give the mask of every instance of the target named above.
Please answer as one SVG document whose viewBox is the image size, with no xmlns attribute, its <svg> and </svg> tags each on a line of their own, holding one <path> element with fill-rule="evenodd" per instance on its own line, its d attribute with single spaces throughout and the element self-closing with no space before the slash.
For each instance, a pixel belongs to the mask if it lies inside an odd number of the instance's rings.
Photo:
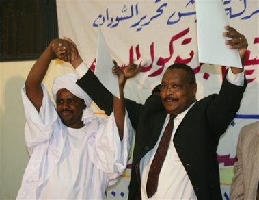
<svg viewBox="0 0 259 200">
<path fill-rule="evenodd" d="M 248 46 L 245 36 L 232 27 L 226 29 L 228 32 L 223 36 L 231 38 L 226 45 L 238 49 L 243 61 Z M 82 66 L 74 68 L 82 72 Z M 134 65 L 128 66 L 125 77 L 132 76 L 128 75 L 129 71 L 134 74 L 137 70 Z M 111 113 L 112 95 L 92 71 L 88 70 L 77 84 L 106 114 Z M 197 101 L 192 68 L 186 64 L 172 64 L 163 75 L 161 97 L 151 95 L 144 105 L 126 99 L 128 116 L 136 129 L 128 199 L 222 199 L 217 146 L 240 107 L 246 86 L 243 68 L 231 67 L 219 94 Z M 171 115 L 176 116 L 172 142 L 162 162 L 158 186 L 149 196 L 146 191 L 148 173 L 153 158 L 159 157 L 155 153 L 160 149 L 159 142 L 163 140 L 163 130 Z"/>
</svg>

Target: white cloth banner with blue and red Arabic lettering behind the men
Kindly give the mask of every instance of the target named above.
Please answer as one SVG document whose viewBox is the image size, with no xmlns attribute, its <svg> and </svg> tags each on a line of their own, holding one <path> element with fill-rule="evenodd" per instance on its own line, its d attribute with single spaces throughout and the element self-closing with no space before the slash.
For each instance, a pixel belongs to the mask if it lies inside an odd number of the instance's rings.
<svg viewBox="0 0 259 200">
<path fill-rule="evenodd" d="M 245 60 L 247 90 L 241 108 L 219 142 L 219 168 L 223 199 L 229 199 L 236 142 L 243 125 L 259 119 L 259 5 L 258 1 L 222 1 L 230 26 L 249 43 Z M 133 59 L 146 64 L 143 72 L 128 80 L 125 97 L 144 103 L 161 82 L 165 69 L 175 62 L 189 64 L 197 77 L 197 99 L 219 92 L 226 66 L 198 62 L 194 0 L 178 1 L 62 1 L 57 0 L 59 37 L 71 38 L 87 65 L 94 71 L 98 24 L 120 66 Z M 209 20 L 209 19 L 208 19 Z M 210 37 L 210 36 L 207 36 Z M 211 38 L 213 40 L 213 38 Z M 214 55 L 217 57 L 217 55 Z M 96 114 L 100 110 L 96 110 Z M 198 145 L 198 144 L 197 144 Z M 131 162 L 122 180 L 107 190 L 107 199 L 126 199 Z"/>
</svg>

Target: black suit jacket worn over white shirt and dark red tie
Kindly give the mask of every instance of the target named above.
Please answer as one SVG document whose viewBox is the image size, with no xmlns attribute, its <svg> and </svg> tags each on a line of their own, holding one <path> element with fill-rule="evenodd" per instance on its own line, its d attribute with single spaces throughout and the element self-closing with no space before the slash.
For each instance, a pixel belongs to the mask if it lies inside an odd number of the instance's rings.
<svg viewBox="0 0 259 200">
<path fill-rule="evenodd" d="M 100 109 L 110 114 L 113 96 L 88 71 L 78 82 Z M 197 199 L 222 199 L 219 181 L 217 146 L 220 136 L 226 131 L 240 107 L 244 86 L 235 86 L 223 80 L 219 95 L 209 95 L 187 112 L 174 135 L 174 146 L 187 171 Z M 141 158 L 156 144 L 167 112 L 161 97 L 151 95 L 144 105 L 125 100 L 126 110 L 136 129 L 135 149 L 131 169 L 128 199 L 136 199 L 139 191 L 138 164 Z"/>
</svg>

